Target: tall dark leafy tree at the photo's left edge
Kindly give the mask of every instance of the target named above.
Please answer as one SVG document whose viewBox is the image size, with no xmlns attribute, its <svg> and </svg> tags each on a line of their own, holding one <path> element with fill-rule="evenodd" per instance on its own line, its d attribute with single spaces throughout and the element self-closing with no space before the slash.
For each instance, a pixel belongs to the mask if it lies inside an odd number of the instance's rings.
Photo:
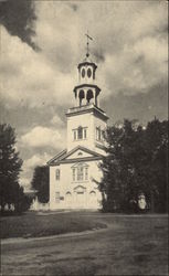
<svg viewBox="0 0 169 276">
<path fill-rule="evenodd" d="M 0 205 L 3 212 L 6 204 L 14 203 L 22 159 L 15 151 L 14 129 L 7 124 L 0 125 Z"/>
</svg>

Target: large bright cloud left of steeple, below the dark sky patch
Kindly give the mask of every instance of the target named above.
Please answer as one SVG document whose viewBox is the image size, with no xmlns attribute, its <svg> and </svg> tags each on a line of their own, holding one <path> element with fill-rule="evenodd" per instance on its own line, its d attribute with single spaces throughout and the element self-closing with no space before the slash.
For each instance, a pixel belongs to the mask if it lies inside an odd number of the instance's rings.
<svg viewBox="0 0 169 276">
<path fill-rule="evenodd" d="M 1 97 L 9 108 L 21 102 L 31 108 L 73 102 L 72 75 L 53 67 L 42 53 L 34 52 L 17 36 L 10 36 L 3 28 L 1 36 Z"/>
</svg>

